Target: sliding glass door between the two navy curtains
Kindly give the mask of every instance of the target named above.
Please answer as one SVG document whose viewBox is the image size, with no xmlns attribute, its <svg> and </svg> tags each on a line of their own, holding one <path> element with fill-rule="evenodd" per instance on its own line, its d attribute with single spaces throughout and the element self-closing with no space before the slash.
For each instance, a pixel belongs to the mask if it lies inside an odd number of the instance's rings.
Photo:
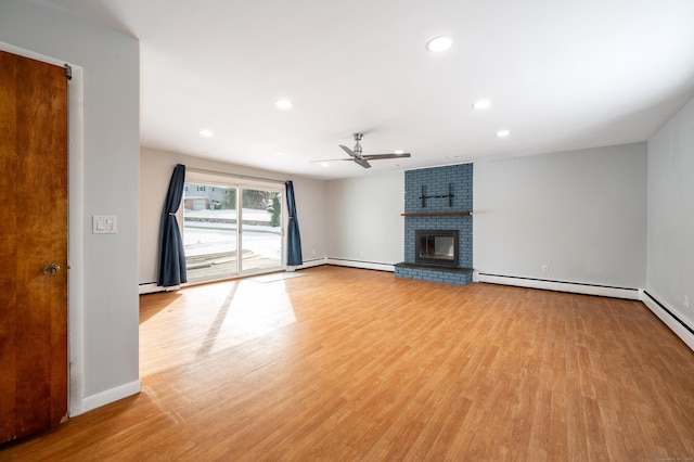
<svg viewBox="0 0 694 462">
<path fill-rule="evenodd" d="M 283 268 L 283 185 L 233 180 L 188 175 L 181 208 L 189 282 Z"/>
</svg>

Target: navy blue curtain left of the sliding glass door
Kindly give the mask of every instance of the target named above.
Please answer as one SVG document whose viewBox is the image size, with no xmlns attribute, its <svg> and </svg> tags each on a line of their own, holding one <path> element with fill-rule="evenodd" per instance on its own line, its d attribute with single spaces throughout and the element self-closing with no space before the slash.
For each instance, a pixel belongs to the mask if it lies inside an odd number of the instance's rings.
<svg viewBox="0 0 694 462">
<path fill-rule="evenodd" d="M 181 231 L 176 219 L 176 211 L 183 197 L 185 166 L 178 164 L 171 175 L 169 191 L 166 193 L 162 224 L 159 228 L 159 274 L 156 285 L 171 287 L 188 282 L 185 274 L 185 251 L 181 240 Z"/>
</svg>

